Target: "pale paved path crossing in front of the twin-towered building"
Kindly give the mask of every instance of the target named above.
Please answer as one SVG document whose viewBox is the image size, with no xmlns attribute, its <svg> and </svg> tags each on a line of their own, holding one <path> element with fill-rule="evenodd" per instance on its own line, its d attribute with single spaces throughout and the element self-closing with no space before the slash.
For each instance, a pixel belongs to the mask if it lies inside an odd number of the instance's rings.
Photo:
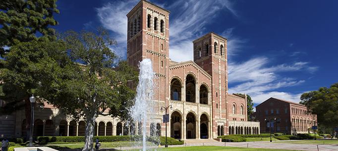
<svg viewBox="0 0 338 151">
<path fill-rule="evenodd" d="M 285 143 L 284 143 L 285 142 Z M 174 145 L 171 147 L 184 147 L 184 146 L 227 146 L 227 147 L 241 147 L 241 148 L 263 148 L 263 149 L 284 149 L 284 150 L 298 150 L 298 151 L 338 151 L 338 145 L 313 145 L 313 144 L 291 144 L 289 141 L 283 143 L 270 143 L 270 142 L 238 142 L 238 143 L 225 143 L 225 142 L 212 142 L 212 143 L 186 143 L 184 145 Z M 164 146 L 161 146 L 163 148 Z M 152 146 L 149 148 L 158 148 Z M 120 150 L 120 148 L 114 148 Z M 140 147 L 122 147 L 122 150 L 135 150 L 141 149 Z"/>
</svg>

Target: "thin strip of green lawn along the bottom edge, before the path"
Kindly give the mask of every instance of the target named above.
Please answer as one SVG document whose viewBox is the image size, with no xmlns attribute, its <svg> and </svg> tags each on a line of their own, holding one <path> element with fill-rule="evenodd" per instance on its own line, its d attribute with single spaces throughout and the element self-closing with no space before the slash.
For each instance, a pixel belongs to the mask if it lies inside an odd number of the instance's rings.
<svg viewBox="0 0 338 151">
<path fill-rule="evenodd" d="M 278 149 L 255 149 L 255 148 L 237 148 L 237 147 L 222 147 L 222 146 L 193 146 L 193 147 L 174 147 L 153 149 L 151 151 L 290 151 Z M 138 150 L 135 150 L 138 151 Z"/>
</svg>

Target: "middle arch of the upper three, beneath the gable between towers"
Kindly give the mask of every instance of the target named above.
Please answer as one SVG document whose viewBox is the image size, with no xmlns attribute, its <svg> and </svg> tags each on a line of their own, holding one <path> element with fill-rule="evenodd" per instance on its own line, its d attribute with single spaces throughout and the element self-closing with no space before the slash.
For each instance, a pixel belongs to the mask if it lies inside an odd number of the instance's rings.
<svg viewBox="0 0 338 151">
<path fill-rule="evenodd" d="M 186 102 L 196 103 L 196 80 L 192 74 L 188 74 L 185 79 L 185 100 Z"/>
</svg>

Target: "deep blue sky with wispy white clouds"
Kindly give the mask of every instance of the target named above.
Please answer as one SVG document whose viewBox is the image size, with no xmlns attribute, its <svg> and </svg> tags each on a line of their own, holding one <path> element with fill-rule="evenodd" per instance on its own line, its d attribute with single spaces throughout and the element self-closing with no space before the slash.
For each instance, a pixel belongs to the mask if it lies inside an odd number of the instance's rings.
<svg viewBox="0 0 338 151">
<path fill-rule="evenodd" d="M 126 58 L 126 14 L 139 0 L 59 0 L 58 32 L 108 29 Z M 337 0 L 150 0 L 170 11 L 169 57 L 193 59 L 192 41 L 208 32 L 228 39 L 230 93 L 255 105 L 338 82 Z"/>
</svg>

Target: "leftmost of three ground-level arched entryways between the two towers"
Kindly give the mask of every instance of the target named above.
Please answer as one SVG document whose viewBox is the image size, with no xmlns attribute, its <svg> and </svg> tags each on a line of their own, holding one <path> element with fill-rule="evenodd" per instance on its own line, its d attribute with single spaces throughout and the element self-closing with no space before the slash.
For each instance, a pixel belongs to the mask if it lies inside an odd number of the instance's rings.
<svg viewBox="0 0 338 151">
<path fill-rule="evenodd" d="M 170 137 L 182 139 L 182 116 L 179 112 L 174 111 L 170 116 Z"/>
</svg>

